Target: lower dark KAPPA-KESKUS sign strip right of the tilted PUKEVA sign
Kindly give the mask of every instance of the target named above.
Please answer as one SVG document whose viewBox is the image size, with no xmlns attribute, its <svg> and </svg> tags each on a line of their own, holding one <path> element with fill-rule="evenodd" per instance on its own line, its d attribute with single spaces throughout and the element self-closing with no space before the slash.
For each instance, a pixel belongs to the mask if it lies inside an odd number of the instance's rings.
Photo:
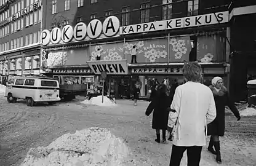
<svg viewBox="0 0 256 166">
<path fill-rule="evenodd" d="M 135 68 L 132 74 L 182 74 L 182 68 Z"/>
</svg>

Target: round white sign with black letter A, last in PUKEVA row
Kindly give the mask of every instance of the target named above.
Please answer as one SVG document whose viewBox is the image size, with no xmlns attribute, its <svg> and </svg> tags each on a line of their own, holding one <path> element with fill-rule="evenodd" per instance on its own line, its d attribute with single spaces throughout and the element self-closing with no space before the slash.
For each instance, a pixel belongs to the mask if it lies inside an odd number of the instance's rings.
<svg viewBox="0 0 256 166">
<path fill-rule="evenodd" d="M 110 16 L 106 18 L 105 21 L 103 22 L 102 30 L 106 36 L 110 37 L 118 33 L 119 27 L 120 27 L 120 22 L 118 17 Z"/>
</svg>

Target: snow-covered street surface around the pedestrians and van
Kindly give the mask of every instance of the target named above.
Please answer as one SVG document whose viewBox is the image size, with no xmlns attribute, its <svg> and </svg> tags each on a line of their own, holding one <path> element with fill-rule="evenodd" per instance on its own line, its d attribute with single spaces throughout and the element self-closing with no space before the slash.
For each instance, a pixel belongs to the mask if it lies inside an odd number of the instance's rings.
<svg viewBox="0 0 256 166">
<path fill-rule="evenodd" d="M 25 101 L 8 103 L 0 96 L 0 165 L 20 165 L 30 148 L 47 146 L 65 133 L 74 133 L 88 127 L 110 128 L 132 149 L 129 165 L 169 165 L 172 143 L 158 144 L 150 117 L 145 116 L 148 101 L 117 100 L 115 106 L 83 105 L 82 97 L 54 106 L 39 104 L 28 107 Z M 222 165 L 256 164 L 256 116 L 236 121 L 226 115 L 226 133 L 220 138 Z M 209 140 L 209 138 L 207 139 Z M 186 155 L 182 160 L 186 165 Z M 217 165 L 215 156 L 204 146 L 201 165 Z"/>
</svg>

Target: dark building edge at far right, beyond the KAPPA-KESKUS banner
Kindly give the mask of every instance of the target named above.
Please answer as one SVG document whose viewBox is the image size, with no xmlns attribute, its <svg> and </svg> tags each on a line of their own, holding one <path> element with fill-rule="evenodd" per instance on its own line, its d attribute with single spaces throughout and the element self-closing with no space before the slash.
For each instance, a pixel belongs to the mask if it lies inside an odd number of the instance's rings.
<svg viewBox="0 0 256 166">
<path fill-rule="evenodd" d="M 256 1 L 230 5 L 230 95 L 236 101 L 247 97 L 247 81 L 256 79 Z"/>
</svg>

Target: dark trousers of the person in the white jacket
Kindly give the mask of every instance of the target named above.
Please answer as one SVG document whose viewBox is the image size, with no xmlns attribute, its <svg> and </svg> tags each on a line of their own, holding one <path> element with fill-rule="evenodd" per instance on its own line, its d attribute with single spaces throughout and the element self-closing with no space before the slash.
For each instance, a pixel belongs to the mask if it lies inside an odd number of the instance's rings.
<svg viewBox="0 0 256 166">
<path fill-rule="evenodd" d="M 179 166 L 185 151 L 188 156 L 188 166 L 199 166 L 202 146 L 175 146 L 174 144 L 169 166 Z"/>
</svg>

